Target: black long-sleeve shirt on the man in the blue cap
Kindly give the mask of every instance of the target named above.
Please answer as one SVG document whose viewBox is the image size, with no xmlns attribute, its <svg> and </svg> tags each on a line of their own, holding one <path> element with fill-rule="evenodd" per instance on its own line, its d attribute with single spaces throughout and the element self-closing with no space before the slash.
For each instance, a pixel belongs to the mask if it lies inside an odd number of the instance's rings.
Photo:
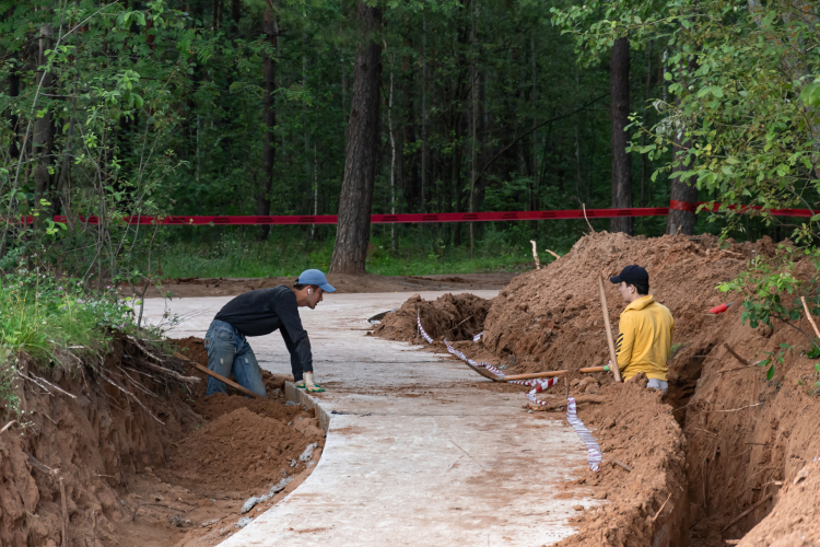
<svg viewBox="0 0 820 547">
<path fill-rule="evenodd" d="M 311 339 L 302 327 L 296 294 L 289 287 L 257 289 L 225 304 L 214 319 L 224 321 L 245 336 L 265 336 L 279 329 L 291 353 L 305 372 L 313 371 Z"/>
</svg>

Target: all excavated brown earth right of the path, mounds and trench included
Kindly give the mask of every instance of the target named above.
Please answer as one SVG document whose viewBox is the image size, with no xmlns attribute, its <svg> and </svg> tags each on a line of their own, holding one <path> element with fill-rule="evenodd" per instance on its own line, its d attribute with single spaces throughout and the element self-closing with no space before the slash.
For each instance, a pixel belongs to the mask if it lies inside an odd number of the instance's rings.
<svg viewBox="0 0 820 547">
<path fill-rule="evenodd" d="M 809 340 L 790 325 L 740 324 L 742 296 L 716 286 L 755 255 L 772 256 L 776 245 L 768 237 L 728 243 L 710 235 L 594 233 L 540 270 L 519 275 L 492 301 L 413 296 L 375 334 L 420 344 L 419 316 L 435 338 L 434 351 L 445 351 L 447 338 L 506 374 L 570 371 L 566 387 L 559 383 L 542 397 L 547 406 L 529 409 L 563 412 L 565 391 L 576 397 L 578 417 L 604 451 L 600 473 L 576 481 L 607 503 L 578 508 L 578 534 L 558 545 L 820 545 L 817 361 L 806 357 Z M 643 388 L 645 377 L 617 384 L 608 373 L 577 372 L 608 361 L 596 276 L 630 264 L 648 270 L 651 293 L 675 317 L 667 396 Z M 796 272 L 817 276 L 808 261 Z M 606 290 L 617 330 L 623 304 L 614 286 Z M 707 313 L 727 298 L 736 303 L 726 313 Z M 794 326 L 811 333 L 806 319 Z M 766 368 L 755 364 L 781 345 L 792 349 L 783 350 L 768 381 Z"/>
</svg>

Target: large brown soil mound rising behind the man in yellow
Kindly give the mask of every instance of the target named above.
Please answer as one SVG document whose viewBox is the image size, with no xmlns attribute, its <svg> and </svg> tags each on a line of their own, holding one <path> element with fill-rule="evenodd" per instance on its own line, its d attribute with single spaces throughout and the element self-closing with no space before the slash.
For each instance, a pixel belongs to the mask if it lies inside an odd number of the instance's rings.
<svg viewBox="0 0 820 547">
<path fill-rule="evenodd" d="M 607 277 L 618 275 L 630 264 L 647 269 L 649 292 L 672 312 L 675 341 L 689 340 L 715 324 L 715 317 L 705 313 L 723 303 L 715 286 L 733 279 L 755 253 L 774 251 L 771 240 L 734 244 L 728 249 L 716 244 L 711 235 L 647 240 L 597 233 L 583 237 L 565 256 L 516 277 L 504 288 L 488 314 L 484 347 L 497 356 L 515 354 L 525 370 L 606 363 L 596 276 L 601 270 Z M 617 328 L 623 304 L 616 287 L 606 284 L 610 321 Z"/>
</svg>

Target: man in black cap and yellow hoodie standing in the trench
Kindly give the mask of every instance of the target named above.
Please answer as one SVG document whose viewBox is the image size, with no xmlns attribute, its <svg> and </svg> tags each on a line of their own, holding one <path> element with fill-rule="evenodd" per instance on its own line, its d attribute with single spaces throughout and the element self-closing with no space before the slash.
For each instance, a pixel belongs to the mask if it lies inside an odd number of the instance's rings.
<svg viewBox="0 0 820 547">
<path fill-rule="evenodd" d="M 675 321 L 669 310 L 649 294 L 649 275 L 641 266 L 626 266 L 609 280 L 628 304 L 621 313 L 616 340 L 618 368 L 624 381 L 639 372 L 646 373 L 646 387 L 667 392 L 667 361 L 672 345 Z"/>
</svg>

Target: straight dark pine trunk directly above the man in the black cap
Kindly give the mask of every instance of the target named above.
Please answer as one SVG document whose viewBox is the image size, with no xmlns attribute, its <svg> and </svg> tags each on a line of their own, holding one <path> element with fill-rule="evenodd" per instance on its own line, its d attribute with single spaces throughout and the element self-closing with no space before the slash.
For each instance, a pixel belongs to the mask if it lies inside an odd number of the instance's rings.
<svg viewBox="0 0 820 547">
<path fill-rule="evenodd" d="M 612 44 L 609 65 L 609 92 L 612 112 L 612 208 L 632 207 L 632 161 L 626 152 L 629 144 L 630 115 L 630 42 L 618 38 Z M 621 217 L 610 220 L 612 232 L 632 234 L 632 218 Z"/>
</svg>

